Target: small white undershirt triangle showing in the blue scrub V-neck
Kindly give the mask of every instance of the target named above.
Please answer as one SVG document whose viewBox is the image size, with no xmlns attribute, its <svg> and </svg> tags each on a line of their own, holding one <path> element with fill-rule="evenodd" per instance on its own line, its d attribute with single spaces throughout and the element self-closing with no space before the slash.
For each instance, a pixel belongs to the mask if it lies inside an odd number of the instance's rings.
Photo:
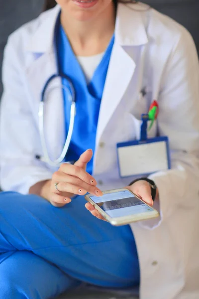
<svg viewBox="0 0 199 299">
<path fill-rule="evenodd" d="M 77 56 L 77 59 L 82 67 L 82 70 L 86 76 L 87 82 L 90 82 L 95 70 L 97 69 L 100 61 L 103 57 L 103 53 L 93 56 Z"/>
</svg>

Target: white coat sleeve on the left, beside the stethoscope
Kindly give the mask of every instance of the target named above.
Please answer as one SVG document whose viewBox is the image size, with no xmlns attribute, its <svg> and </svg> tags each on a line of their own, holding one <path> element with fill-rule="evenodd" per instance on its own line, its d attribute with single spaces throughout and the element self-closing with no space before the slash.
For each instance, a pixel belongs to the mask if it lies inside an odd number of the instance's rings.
<svg viewBox="0 0 199 299">
<path fill-rule="evenodd" d="M 22 53 L 21 53 L 22 55 Z M 23 194 L 52 172 L 35 159 L 39 133 L 26 91 L 22 63 L 12 38 L 4 51 L 0 113 L 0 185 Z"/>
</svg>

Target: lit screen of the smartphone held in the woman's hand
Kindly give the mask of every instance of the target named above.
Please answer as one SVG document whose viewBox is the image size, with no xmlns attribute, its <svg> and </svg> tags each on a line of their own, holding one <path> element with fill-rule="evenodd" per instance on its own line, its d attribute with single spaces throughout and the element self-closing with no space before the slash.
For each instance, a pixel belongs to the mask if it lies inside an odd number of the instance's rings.
<svg viewBox="0 0 199 299">
<path fill-rule="evenodd" d="M 128 190 L 108 193 L 100 197 L 90 196 L 90 198 L 111 218 L 153 211 Z"/>
</svg>

